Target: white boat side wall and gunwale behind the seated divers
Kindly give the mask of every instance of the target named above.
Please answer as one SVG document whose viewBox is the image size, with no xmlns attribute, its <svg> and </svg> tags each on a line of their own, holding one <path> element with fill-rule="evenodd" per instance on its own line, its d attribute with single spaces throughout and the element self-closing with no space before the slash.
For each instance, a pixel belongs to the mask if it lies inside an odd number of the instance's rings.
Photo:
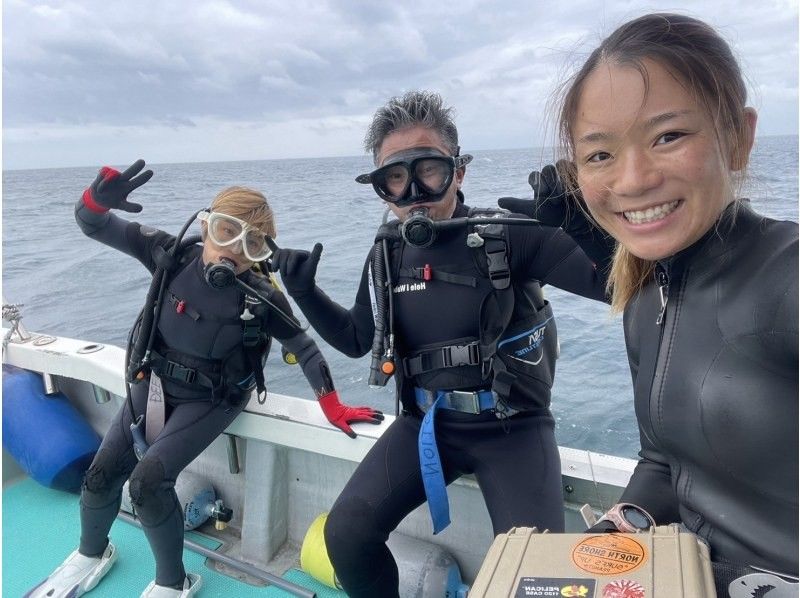
<svg viewBox="0 0 800 598">
<path fill-rule="evenodd" d="M 16 331 L 4 327 L 3 336 L 8 338 L 4 364 L 41 373 L 46 389 L 63 393 L 100 435 L 105 433 L 125 397 L 122 348 L 28 333 L 23 326 Z M 272 574 L 297 567 L 309 526 L 331 507 L 357 463 L 392 420 L 387 416 L 381 426 L 355 424 L 358 438 L 353 440 L 332 427 L 313 401 L 277 393 L 270 393 L 263 405 L 250 401 L 187 468 L 206 476 L 218 497 L 233 509 L 225 530 L 205 526 L 204 533 L 224 541 L 230 557 Z M 580 508 L 589 504 L 602 512 L 614 504 L 635 462 L 566 447 L 559 451 L 567 531 L 581 531 L 585 524 Z M 4 488 L 23 476 L 4 449 Z M 469 584 L 493 540 L 492 527 L 472 477 L 452 484 L 448 496 L 453 522 L 445 531 L 432 535 L 423 505 L 401 523 L 398 533 L 452 554 Z M 4 538 L 4 548 L 13 550 L 13 539 L 10 545 L 6 542 Z"/>
</svg>

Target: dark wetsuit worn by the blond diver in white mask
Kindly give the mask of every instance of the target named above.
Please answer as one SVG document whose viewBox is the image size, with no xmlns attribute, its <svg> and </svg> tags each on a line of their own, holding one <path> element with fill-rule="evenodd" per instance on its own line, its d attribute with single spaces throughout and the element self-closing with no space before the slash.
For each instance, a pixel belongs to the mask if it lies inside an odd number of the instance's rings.
<svg viewBox="0 0 800 598">
<path fill-rule="evenodd" d="M 89 211 L 82 200 L 76 220 L 88 236 L 138 259 L 151 272 L 156 246 L 167 246 L 174 237 L 128 222 L 113 214 Z M 252 368 L 247 368 L 243 351 L 241 291 L 236 286 L 213 289 L 203 279 L 201 248 L 188 250 L 184 266 L 170 280 L 164 296 L 155 349 L 164 355 L 186 360 L 198 370 L 227 360 L 223 373 L 237 373 L 220 396 L 208 388 L 193 386 L 162 376 L 166 410 L 164 428 L 151 443 L 145 457 L 137 461 L 130 432 L 131 413 L 123 405 L 103 438 L 100 449 L 86 473 L 81 491 L 81 542 L 79 551 L 87 556 L 101 554 L 108 543 L 108 531 L 119 512 L 122 487 L 130 478 L 131 501 L 136 509 L 156 561 L 156 583 L 177 586 L 183 582 L 183 511 L 175 494 L 178 474 L 236 418 L 247 404 L 252 389 Z M 266 279 L 246 272 L 251 286 L 286 313 L 291 308 L 280 291 Z M 178 309 L 177 302 L 184 305 Z M 260 307 L 260 306 L 259 306 Z M 303 373 L 316 392 L 333 390 L 326 378 L 327 364 L 314 341 L 270 312 L 259 313 L 261 329 L 294 353 Z M 324 368 L 322 367 L 324 366 Z M 238 368 L 238 371 L 237 371 Z M 213 375 L 211 371 L 208 372 Z M 219 374 L 219 369 L 215 374 Z M 136 415 L 145 412 L 149 378 L 131 386 Z"/>
</svg>

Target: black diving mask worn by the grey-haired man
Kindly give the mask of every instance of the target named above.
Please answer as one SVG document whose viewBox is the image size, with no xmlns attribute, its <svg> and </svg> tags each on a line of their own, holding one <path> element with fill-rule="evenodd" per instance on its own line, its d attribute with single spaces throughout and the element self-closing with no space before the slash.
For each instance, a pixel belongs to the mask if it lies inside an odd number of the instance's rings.
<svg viewBox="0 0 800 598">
<path fill-rule="evenodd" d="M 458 168 L 472 156 L 445 156 L 435 148 L 416 148 L 391 156 L 380 168 L 356 177 L 368 184 L 382 199 L 397 206 L 432 203 L 442 199 Z"/>
</svg>

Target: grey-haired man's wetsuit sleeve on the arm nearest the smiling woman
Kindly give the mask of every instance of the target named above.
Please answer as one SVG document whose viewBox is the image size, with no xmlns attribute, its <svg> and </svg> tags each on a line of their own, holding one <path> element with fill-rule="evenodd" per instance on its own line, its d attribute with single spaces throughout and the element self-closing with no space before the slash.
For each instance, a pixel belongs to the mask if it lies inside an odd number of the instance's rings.
<svg viewBox="0 0 800 598">
<path fill-rule="evenodd" d="M 600 264 L 583 252 L 562 229 L 552 226 L 508 226 L 511 275 L 599 301 L 607 301 L 610 256 Z"/>
</svg>

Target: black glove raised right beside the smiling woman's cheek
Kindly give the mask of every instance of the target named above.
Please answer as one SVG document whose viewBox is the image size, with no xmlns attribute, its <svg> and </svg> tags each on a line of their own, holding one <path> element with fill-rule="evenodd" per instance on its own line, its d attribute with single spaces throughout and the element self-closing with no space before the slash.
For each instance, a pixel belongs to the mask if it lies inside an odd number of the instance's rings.
<svg viewBox="0 0 800 598">
<path fill-rule="evenodd" d="M 501 208 L 525 214 L 548 226 L 558 226 L 570 236 L 586 235 L 595 226 L 586 217 L 586 204 L 579 193 L 567 192 L 561 172 L 572 172 L 575 167 L 566 160 L 559 160 L 557 167 L 548 164 L 541 172 L 534 170 L 528 176 L 533 189 L 533 199 L 501 197 L 497 203 Z"/>
</svg>

